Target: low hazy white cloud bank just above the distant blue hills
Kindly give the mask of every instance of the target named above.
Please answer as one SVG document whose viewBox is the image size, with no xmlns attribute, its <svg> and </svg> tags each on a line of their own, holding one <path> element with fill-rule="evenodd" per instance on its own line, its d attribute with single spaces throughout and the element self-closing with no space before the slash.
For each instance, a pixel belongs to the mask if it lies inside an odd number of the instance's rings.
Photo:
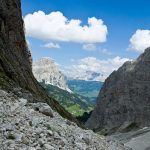
<svg viewBox="0 0 150 150">
<path fill-rule="evenodd" d="M 107 60 L 87 57 L 79 60 L 78 64 L 65 67 L 64 73 L 68 78 L 104 81 L 110 73 L 117 70 L 124 62 L 129 60 L 128 58 L 120 58 L 119 56 Z"/>
</svg>

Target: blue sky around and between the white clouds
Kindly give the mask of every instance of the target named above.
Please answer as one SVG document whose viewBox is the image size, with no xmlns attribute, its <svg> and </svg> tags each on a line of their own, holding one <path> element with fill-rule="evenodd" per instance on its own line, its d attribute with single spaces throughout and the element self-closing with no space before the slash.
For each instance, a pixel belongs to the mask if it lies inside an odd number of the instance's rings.
<svg viewBox="0 0 150 150">
<path fill-rule="evenodd" d="M 39 10 L 45 14 L 59 11 L 68 20 L 81 20 L 81 25 L 87 25 L 87 19 L 91 17 L 102 19 L 108 29 L 107 41 L 94 43 L 96 50 L 93 51 L 83 50 L 83 45 L 88 43 L 46 41 L 28 36 L 33 59 L 48 56 L 64 66 L 87 57 L 98 60 L 116 56 L 134 59 L 142 49 L 127 50 L 131 44 L 129 40 L 138 29 L 150 29 L 149 6 L 148 0 L 22 0 L 23 16 Z M 48 42 L 57 43 L 60 48 L 44 48 L 42 45 Z"/>
</svg>

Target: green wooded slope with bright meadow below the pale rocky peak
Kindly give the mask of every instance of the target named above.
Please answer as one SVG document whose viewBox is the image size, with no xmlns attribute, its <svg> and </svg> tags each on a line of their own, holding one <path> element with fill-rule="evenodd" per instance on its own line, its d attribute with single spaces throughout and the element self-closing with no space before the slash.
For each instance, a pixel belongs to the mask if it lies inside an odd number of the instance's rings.
<svg viewBox="0 0 150 150">
<path fill-rule="evenodd" d="M 82 116 L 84 112 L 91 111 L 94 106 L 87 97 L 67 92 L 56 86 L 41 83 L 49 95 L 56 99 L 67 111 L 75 116 Z"/>
</svg>

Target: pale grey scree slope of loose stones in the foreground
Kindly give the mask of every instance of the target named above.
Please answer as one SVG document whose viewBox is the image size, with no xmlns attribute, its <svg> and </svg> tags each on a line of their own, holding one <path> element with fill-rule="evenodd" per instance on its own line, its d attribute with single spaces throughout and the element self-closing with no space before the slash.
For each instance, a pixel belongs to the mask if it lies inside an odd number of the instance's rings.
<svg viewBox="0 0 150 150">
<path fill-rule="evenodd" d="M 127 150 L 83 130 L 46 103 L 28 103 L 0 90 L 0 150 Z"/>
</svg>

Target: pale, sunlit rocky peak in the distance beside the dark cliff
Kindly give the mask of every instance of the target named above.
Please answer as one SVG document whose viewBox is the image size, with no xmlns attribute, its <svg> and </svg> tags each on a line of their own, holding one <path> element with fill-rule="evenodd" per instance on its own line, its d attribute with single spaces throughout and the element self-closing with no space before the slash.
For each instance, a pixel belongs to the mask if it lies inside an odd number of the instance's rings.
<svg viewBox="0 0 150 150">
<path fill-rule="evenodd" d="M 44 81 L 45 84 L 51 84 L 71 92 L 71 90 L 68 88 L 66 77 L 51 58 L 44 57 L 39 61 L 34 62 L 32 69 L 35 78 L 39 82 Z"/>
</svg>

